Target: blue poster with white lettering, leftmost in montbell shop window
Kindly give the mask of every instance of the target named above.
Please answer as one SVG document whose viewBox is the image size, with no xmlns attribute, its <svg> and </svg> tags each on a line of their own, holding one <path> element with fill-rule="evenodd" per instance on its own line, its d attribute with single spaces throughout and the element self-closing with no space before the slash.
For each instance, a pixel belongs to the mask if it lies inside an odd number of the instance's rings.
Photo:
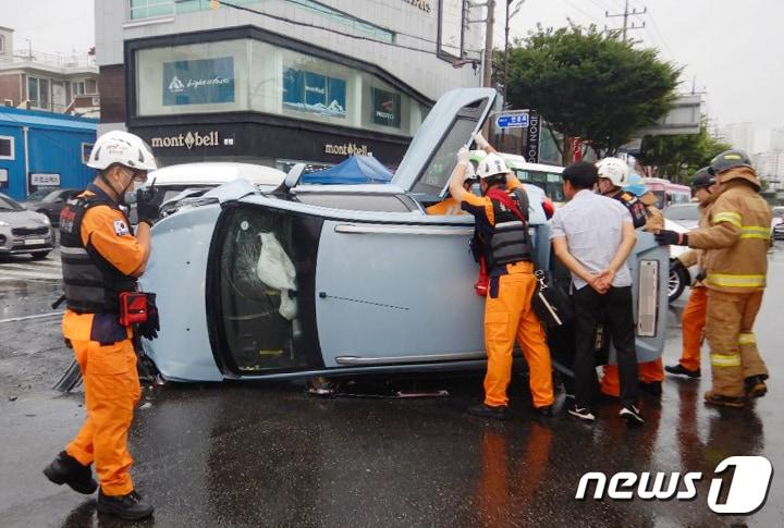
<svg viewBox="0 0 784 528">
<path fill-rule="evenodd" d="M 234 58 L 163 63 L 163 105 L 234 102 Z"/>
</svg>

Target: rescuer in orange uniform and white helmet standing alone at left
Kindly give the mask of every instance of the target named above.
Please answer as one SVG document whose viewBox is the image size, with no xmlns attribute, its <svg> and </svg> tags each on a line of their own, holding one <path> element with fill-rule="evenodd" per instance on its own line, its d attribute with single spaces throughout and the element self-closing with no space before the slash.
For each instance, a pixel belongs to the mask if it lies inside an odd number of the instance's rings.
<svg viewBox="0 0 784 528">
<path fill-rule="evenodd" d="M 98 488 L 97 508 L 125 519 L 152 514 L 136 493 L 127 434 L 139 398 L 133 328 L 119 320 L 120 294 L 137 290 L 136 278 L 150 255 L 150 226 L 162 193 L 138 193 L 139 224 L 134 235 L 125 213 L 125 193 L 156 169 L 149 147 L 137 136 L 109 132 L 98 138 L 87 165 L 98 171 L 87 189 L 69 200 L 60 217 L 64 298 L 63 335 L 78 361 L 87 418 L 70 444 L 44 474 L 79 493 Z M 148 321 L 142 335 L 154 337 Z"/>
</svg>

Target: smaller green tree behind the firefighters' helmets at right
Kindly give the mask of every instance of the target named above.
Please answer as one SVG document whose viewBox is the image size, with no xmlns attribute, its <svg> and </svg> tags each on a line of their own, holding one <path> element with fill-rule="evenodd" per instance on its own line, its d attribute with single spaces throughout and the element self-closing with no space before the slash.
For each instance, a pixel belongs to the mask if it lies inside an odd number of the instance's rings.
<svg viewBox="0 0 784 528">
<path fill-rule="evenodd" d="M 699 134 L 644 137 L 637 161 L 648 176 L 689 183 L 691 174 L 728 148 L 732 147 L 710 135 L 703 118 Z"/>
</svg>

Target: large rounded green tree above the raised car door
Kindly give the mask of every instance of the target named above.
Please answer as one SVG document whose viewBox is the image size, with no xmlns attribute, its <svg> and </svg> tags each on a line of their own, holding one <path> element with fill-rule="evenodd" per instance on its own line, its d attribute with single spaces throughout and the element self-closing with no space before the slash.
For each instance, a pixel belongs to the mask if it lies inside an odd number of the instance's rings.
<svg viewBox="0 0 784 528">
<path fill-rule="evenodd" d="M 506 87 L 512 107 L 536 109 L 551 132 L 580 137 L 598 155 L 614 155 L 672 109 L 681 70 L 617 33 L 539 27 L 515 44 Z M 563 142 L 558 148 L 563 155 Z"/>
</svg>

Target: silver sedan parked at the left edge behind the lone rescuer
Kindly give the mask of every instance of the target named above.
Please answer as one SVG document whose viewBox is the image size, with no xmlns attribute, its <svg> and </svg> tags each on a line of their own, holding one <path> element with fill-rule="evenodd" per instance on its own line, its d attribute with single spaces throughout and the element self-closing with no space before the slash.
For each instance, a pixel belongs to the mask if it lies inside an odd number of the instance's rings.
<svg viewBox="0 0 784 528">
<path fill-rule="evenodd" d="M 34 259 L 46 258 L 53 245 L 49 217 L 0 193 L 0 256 L 27 253 Z"/>
</svg>

